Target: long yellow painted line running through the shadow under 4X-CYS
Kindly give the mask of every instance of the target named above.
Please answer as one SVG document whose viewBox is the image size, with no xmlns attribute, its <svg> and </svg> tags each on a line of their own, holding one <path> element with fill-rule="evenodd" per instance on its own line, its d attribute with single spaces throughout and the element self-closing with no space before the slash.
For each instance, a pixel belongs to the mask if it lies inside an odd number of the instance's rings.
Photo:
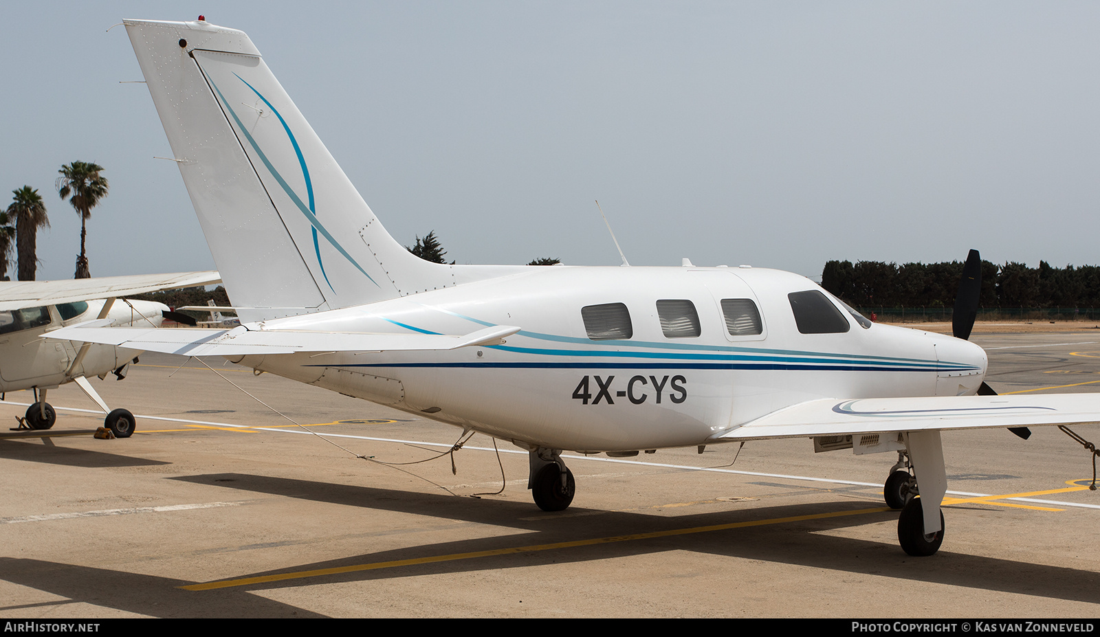
<svg viewBox="0 0 1100 637">
<path fill-rule="evenodd" d="M 631 534 L 625 536 L 610 536 L 604 538 L 592 538 L 586 540 L 573 540 L 568 542 L 552 542 L 547 545 L 530 545 L 526 547 L 509 547 L 503 549 L 491 549 L 485 551 L 471 551 L 466 553 L 451 553 L 448 556 L 428 556 L 425 558 L 410 558 L 407 560 L 392 560 L 387 562 L 374 562 L 371 564 L 354 564 L 350 567 L 337 567 L 332 569 L 316 569 L 311 571 L 298 571 L 294 573 L 279 573 L 275 575 L 261 575 L 257 578 L 242 578 L 239 580 L 221 580 L 217 582 L 206 582 L 201 584 L 189 584 L 186 586 L 179 586 L 180 589 L 187 591 L 211 591 L 215 589 L 229 589 L 233 586 L 246 586 L 250 584 L 263 584 L 267 582 L 283 582 L 286 580 L 299 580 L 304 578 L 316 578 L 319 575 L 338 575 L 342 573 L 356 573 L 362 571 L 377 571 L 381 569 L 393 569 L 397 567 L 409 567 L 416 564 L 431 564 L 438 562 L 453 562 L 459 560 L 471 560 L 475 558 L 488 558 L 493 556 L 508 556 L 516 553 L 530 553 L 537 551 L 551 551 L 557 549 L 571 549 L 578 547 L 590 547 L 595 545 L 606 545 L 613 542 L 625 542 L 632 540 L 645 540 L 652 538 L 662 537 L 674 537 L 684 536 L 691 534 L 711 532 L 717 530 L 727 530 L 734 528 L 747 528 L 755 526 L 767 526 L 773 524 L 784 524 L 792 521 L 803 521 L 807 519 L 826 519 L 831 517 L 845 517 L 853 515 L 866 515 L 869 513 L 883 513 L 889 512 L 890 508 L 880 506 L 875 508 L 861 508 L 858 510 L 845 510 L 835 513 L 820 513 L 814 515 L 800 515 L 793 517 L 780 517 L 772 519 L 760 519 L 751 521 L 738 521 L 730 524 L 721 524 L 712 526 L 701 526 L 693 528 L 681 528 L 681 529 L 670 529 L 662 531 L 652 531 L 645 534 Z"/>
</svg>

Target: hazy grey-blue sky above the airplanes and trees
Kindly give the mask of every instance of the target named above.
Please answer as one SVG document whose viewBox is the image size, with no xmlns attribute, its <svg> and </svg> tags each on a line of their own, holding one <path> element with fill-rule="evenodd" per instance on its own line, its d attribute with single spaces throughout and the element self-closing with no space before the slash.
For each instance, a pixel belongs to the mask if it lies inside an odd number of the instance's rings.
<svg viewBox="0 0 1100 637">
<path fill-rule="evenodd" d="M 1100 264 L 1096 2 L 21 2 L 0 193 L 105 166 L 94 276 L 213 267 L 123 18 L 245 31 L 402 243 L 459 263 Z M 0 202 L 11 202 L 3 195 Z"/>
</svg>

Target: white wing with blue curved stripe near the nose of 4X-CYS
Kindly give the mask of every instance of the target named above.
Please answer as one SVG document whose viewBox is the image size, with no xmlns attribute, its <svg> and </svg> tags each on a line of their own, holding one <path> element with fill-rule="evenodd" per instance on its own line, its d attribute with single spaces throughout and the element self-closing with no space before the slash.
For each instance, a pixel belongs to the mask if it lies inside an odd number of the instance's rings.
<svg viewBox="0 0 1100 637">
<path fill-rule="evenodd" d="M 824 398 L 711 437 L 715 441 L 1100 422 L 1100 394 Z"/>
</svg>

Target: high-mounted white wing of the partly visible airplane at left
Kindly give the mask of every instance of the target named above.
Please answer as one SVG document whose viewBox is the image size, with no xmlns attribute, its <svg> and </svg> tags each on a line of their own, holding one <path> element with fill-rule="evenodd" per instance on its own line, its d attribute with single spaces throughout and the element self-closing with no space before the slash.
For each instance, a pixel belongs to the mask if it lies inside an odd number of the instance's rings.
<svg viewBox="0 0 1100 637">
<path fill-rule="evenodd" d="M 221 283 L 217 271 L 0 282 L 0 311 Z"/>
</svg>

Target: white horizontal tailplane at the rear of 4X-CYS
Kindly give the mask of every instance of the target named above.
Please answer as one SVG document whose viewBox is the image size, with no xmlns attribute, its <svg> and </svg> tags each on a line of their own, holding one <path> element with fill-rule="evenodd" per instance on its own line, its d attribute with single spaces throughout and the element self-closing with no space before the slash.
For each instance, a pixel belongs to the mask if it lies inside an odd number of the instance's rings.
<svg viewBox="0 0 1100 637">
<path fill-rule="evenodd" d="M 44 336 L 185 356 L 239 356 L 294 352 L 453 350 L 497 344 L 504 337 L 519 331 L 513 326 L 492 326 L 462 336 L 250 330 L 246 327 L 231 330 L 98 327 L 106 322 L 88 321 Z"/>
</svg>

